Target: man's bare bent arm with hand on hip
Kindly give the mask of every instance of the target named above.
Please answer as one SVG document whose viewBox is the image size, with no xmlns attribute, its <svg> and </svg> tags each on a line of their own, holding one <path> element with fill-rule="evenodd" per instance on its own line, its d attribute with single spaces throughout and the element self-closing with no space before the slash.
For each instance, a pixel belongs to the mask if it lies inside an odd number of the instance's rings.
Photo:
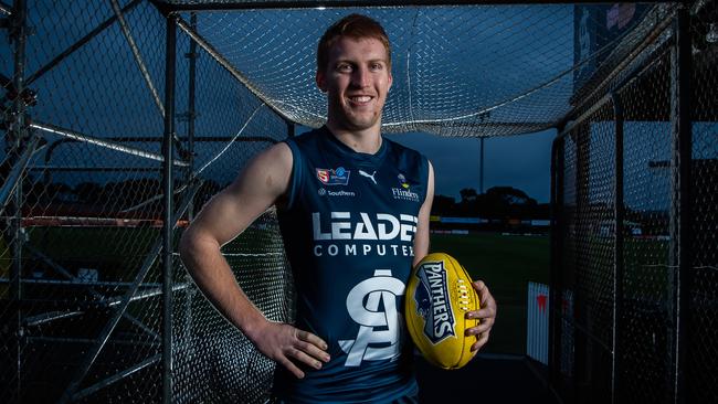
<svg viewBox="0 0 718 404">
<path fill-rule="evenodd" d="M 297 363 L 320 368 L 329 360 L 317 336 L 268 321 L 249 300 L 220 248 L 283 198 L 292 177 L 292 151 L 278 143 L 256 156 L 226 189 L 214 195 L 186 230 L 180 242 L 182 263 L 197 286 L 257 349 L 297 378 Z"/>
</svg>

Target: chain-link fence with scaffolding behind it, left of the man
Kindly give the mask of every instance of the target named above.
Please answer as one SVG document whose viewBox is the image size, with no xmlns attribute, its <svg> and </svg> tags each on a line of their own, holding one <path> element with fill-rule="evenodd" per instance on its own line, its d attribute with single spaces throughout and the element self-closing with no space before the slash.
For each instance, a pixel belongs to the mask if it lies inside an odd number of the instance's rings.
<svg viewBox="0 0 718 404">
<path fill-rule="evenodd" d="M 172 40 L 149 2 L 15 1 L 3 12 L 0 401 L 159 402 L 165 375 L 173 402 L 261 401 L 273 363 L 250 352 L 175 253 L 167 281 L 162 232 L 175 227 L 175 245 L 193 212 L 293 127 L 173 23 Z M 183 18 L 191 30 L 196 18 Z M 276 214 L 224 253 L 251 274 L 243 287 L 257 307 L 289 320 Z"/>
</svg>

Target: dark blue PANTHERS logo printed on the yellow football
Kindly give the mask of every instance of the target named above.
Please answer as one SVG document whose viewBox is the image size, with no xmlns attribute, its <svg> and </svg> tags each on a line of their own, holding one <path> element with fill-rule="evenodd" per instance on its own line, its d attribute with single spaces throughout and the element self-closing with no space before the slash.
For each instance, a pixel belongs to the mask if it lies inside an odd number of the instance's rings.
<svg viewBox="0 0 718 404">
<path fill-rule="evenodd" d="M 416 270 L 416 312 L 424 319 L 424 334 L 433 344 L 456 336 L 444 263 L 426 262 Z"/>
</svg>

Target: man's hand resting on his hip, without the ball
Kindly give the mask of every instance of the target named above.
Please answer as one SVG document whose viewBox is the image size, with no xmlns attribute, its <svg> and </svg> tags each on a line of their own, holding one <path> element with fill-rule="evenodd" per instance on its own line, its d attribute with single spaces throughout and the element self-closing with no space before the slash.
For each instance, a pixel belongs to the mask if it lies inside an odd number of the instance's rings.
<svg viewBox="0 0 718 404">
<path fill-rule="evenodd" d="M 304 378 L 304 372 L 297 363 L 321 369 L 321 362 L 329 362 L 325 341 L 286 323 L 266 321 L 252 333 L 251 339 L 262 353 L 298 379 Z"/>
</svg>

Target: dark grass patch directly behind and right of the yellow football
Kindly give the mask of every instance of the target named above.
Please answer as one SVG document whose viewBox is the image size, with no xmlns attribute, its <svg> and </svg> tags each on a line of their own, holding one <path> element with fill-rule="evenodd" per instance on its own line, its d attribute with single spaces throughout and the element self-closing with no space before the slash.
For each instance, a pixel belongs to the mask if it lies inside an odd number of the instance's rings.
<svg viewBox="0 0 718 404">
<path fill-rule="evenodd" d="M 496 298 L 498 316 L 484 352 L 525 353 L 527 287 L 549 281 L 549 237 L 432 234 L 430 249 L 455 257 Z"/>
</svg>

